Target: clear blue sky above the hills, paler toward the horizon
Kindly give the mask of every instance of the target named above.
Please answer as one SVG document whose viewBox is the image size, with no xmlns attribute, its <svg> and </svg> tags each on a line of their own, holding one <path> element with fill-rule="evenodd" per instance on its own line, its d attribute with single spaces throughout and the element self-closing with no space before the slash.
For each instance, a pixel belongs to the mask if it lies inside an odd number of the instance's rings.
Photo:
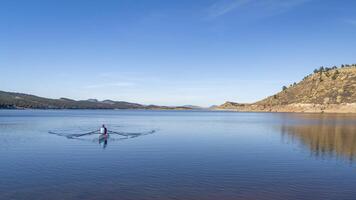
<svg viewBox="0 0 356 200">
<path fill-rule="evenodd" d="M 353 0 L 2 0 L 0 90 L 209 106 L 356 63 Z"/>
</svg>

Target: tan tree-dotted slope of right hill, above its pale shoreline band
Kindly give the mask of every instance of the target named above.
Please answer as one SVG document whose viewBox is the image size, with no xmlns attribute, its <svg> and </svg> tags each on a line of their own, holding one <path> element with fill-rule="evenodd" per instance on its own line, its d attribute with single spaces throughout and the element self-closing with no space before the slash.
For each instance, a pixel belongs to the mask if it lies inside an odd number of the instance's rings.
<svg viewBox="0 0 356 200">
<path fill-rule="evenodd" d="M 259 105 L 356 103 L 356 67 L 318 71 Z"/>
</svg>

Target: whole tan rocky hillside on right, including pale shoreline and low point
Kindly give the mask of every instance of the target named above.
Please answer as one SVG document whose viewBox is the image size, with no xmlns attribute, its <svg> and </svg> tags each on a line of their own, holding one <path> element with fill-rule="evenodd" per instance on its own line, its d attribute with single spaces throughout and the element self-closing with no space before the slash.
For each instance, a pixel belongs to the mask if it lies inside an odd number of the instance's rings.
<svg viewBox="0 0 356 200">
<path fill-rule="evenodd" d="M 275 112 L 356 112 L 356 65 L 321 67 L 299 83 L 253 104 L 226 102 L 219 109 Z"/>
</svg>

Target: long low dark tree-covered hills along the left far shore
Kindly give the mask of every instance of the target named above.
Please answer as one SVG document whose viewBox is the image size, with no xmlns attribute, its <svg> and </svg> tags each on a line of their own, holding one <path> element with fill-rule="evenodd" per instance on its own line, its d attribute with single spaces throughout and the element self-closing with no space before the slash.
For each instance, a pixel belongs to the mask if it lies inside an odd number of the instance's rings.
<svg viewBox="0 0 356 200">
<path fill-rule="evenodd" d="M 50 99 L 30 94 L 0 91 L 0 109 L 155 109 L 190 110 L 185 106 L 169 107 L 142 105 L 125 101 L 88 99 L 76 101 L 68 98 Z"/>
</svg>

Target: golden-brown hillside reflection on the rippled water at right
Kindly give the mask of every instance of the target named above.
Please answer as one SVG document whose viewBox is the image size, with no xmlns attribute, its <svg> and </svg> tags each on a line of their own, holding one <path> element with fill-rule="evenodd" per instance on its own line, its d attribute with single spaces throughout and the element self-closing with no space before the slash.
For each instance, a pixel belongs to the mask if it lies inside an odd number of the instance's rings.
<svg viewBox="0 0 356 200">
<path fill-rule="evenodd" d="M 315 156 L 356 157 L 355 125 L 290 125 L 281 127 L 282 136 L 307 146 Z"/>
</svg>

